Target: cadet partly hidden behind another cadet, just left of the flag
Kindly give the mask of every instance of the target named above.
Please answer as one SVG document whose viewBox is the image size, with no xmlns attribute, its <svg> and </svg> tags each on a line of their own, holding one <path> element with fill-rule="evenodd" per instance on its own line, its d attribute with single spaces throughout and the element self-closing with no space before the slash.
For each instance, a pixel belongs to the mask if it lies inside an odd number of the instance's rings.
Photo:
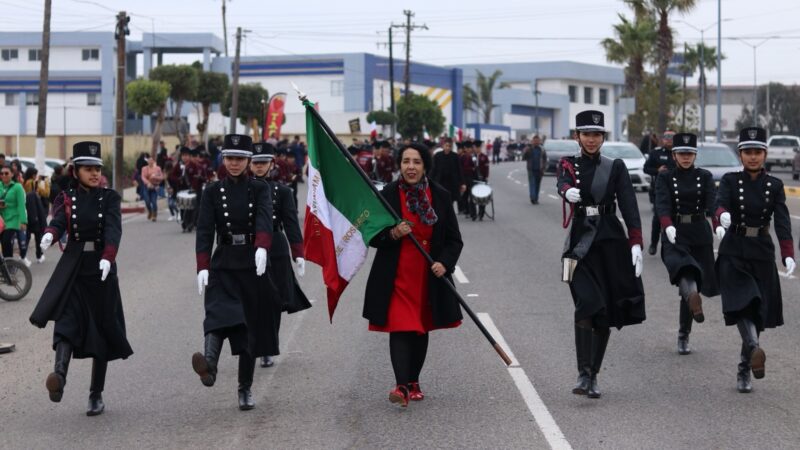
<svg viewBox="0 0 800 450">
<path fill-rule="evenodd" d="M 275 180 L 270 180 L 269 173 L 275 164 L 275 147 L 269 142 L 253 144 L 253 158 L 250 171 L 256 180 L 269 186 L 272 194 L 272 230 L 274 239 L 269 251 L 269 277 L 274 282 L 275 299 L 275 333 L 281 326 L 281 313 L 289 314 L 303 311 L 311 307 L 311 302 L 300 289 L 292 270 L 292 258 L 297 263 L 297 274 L 302 277 L 306 272 L 306 260 L 303 254 L 303 234 L 297 220 L 297 206 L 294 203 L 292 189 Z M 291 253 L 290 253 L 291 249 Z M 271 355 L 261 358 L 261 367 L 272 367 Z"/>
</svg>

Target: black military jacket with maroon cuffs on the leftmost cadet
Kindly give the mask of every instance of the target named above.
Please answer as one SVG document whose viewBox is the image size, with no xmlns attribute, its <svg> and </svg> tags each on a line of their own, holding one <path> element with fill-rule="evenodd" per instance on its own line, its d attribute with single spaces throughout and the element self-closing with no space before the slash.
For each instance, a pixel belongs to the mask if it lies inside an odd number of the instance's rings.
<svg viewBox="0 0 800 450">
<path fill-rule="evenodd" d="M 96 251 L 102 251 L 102 259 L 113 263 L 122 239 L 120 201 L 119 194 L 112 189 L 82 186 L 68 189 L 56 197 L 53 219 L 45 233 L 51 233 L 56 242 L 66 232 L 67 246 L 94 245 Z"/>
</svg>

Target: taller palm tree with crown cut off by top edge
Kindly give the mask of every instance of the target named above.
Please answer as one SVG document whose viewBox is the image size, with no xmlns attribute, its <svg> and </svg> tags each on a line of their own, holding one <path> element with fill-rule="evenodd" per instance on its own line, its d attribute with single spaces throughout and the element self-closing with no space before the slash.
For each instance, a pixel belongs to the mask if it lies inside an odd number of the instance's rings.
<svg viewBox="0 0 800 450">
<path fill-rule="evenodd" d="M 658 129 L 664 131 L 667 126 L 667 69 L 672 60 L 672 28 L 669 16 L 673 12 L 686 13 L 694 8 L 697 0 L 625 0 L 634 11 L 649 10 L 658 19 L 656 38 L 656 74 L 659 80 L 658 90 Z"/>
</svg>

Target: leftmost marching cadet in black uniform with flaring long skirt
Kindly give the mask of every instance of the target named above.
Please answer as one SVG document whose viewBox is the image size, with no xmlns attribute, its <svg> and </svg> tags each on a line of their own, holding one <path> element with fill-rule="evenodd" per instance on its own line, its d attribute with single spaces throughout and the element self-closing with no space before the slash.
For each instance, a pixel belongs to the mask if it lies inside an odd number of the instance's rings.
<svg viewBox="0 0 800 450">
<path fill-rule="evenodd" d="M 109 361 L 133 354 L 125 335 L 125 316 L 115 259 L 122 237 L 120 196 L 99 187 L 100 144 L 78 142 L 72 147 L 72 187 L 56 197 L 53 219 L 42 236 L 42 251 L 67 233 L 67 246 L 31 315 L 44 328 L 55 321 L 56 363 L 47 376 L 50 400 L 60 402 L 70 358 L 92 358 L 92 383 L 86 414 L 105 409 L 103 387 Z"/>
</svg>

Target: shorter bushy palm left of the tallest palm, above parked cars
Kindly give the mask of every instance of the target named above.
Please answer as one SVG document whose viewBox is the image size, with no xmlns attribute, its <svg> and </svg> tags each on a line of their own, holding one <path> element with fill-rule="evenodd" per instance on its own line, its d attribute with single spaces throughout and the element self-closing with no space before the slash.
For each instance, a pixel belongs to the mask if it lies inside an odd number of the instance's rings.
<svg viewBox="0 0 800 450">
<path fill-rule="evenodd" d="M 634 21 L 619 15 L 620 23 L 614 25 L 614 38 L 600 43 L 609 62 L 625 64 L 625 96 L 636 100 L 636 112 L 628 116 L 628 137 L 638 138 L 644 129 L 642 123 L 641 87 L 644 83 L 644 64 L 653 55 L 656 42 L 655 22 L 646 14 L 637 14 Z"/>
</svg>

